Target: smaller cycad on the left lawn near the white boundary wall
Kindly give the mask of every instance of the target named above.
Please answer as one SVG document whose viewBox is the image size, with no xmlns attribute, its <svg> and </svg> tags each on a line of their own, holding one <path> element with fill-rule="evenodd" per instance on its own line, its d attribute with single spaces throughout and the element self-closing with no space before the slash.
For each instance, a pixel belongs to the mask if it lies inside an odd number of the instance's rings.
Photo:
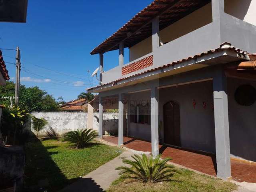
<svg viewBox="0 0 256 192">
<path fill-rule="evenodd" d="M 70 131 L 64 134 L 64 140 L 72 142 L 76 144 L 77 148 L 84 148 L 84 146 L 96 138 L 98 133 L 96 130 L 92 129 L 84 129 L 84 130 L 76 130 Z"/>
</svg>

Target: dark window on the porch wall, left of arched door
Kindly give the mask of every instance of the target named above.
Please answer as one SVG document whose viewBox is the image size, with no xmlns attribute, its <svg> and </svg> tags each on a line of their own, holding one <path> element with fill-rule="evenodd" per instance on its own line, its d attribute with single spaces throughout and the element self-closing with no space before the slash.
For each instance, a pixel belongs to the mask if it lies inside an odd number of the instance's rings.
<svg viewBox="0 0 256 192">
<path fill-rule="evenodd" d="M 145 106 L 138 104 L 137 106 L 131 106 L 130 109 L 130 122 L 139 124 L 150 124 L 150 110 L 149 104 Z"/>
</svg>

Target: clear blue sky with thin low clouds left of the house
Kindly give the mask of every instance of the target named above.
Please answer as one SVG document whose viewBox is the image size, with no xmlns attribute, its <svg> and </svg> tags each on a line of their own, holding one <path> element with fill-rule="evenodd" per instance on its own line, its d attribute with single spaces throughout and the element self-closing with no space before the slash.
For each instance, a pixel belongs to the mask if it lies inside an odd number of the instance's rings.
<svg viewBox="0 0 256 192">
<path fill-rule="evenodd" d="M 26 23 L 1 22 L 0 48 L 20 47 L 21 83 L 65 101 L 98 84 L 88 76 L 99 65 L 90 51 L 152 0 L 29 0 Z M 16 52 L 2 50 L 6 62 Z M 127 50 L 124 60 L 128 62 Z M 118 51 L 104 56 L 104 70 L 118 65 Z M 15 66 L 6 63 L 11 79 Z"/>
</svg>

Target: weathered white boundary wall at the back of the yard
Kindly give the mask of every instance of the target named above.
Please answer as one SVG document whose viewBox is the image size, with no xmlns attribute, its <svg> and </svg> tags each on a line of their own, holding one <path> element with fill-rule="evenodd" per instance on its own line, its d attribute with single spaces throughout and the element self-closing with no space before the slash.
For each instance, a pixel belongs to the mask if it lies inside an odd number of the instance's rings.
<svg viewBox="0 0 256 192">
<path fill-rule="evenodd" d="M 86 112 L 32 112 L 37 118 L 48 120 L 49 126 L 59 134 L 68 131 L 87 128 Z M 93 114 L 93 127 L 98 131 L 98 113 Z M 103 116 L 103 133 L 112 133 L 118 130 L 118 113 L 104 113 Z M 40 133 L 41 136 L 44 132 Z"/>
</svg>

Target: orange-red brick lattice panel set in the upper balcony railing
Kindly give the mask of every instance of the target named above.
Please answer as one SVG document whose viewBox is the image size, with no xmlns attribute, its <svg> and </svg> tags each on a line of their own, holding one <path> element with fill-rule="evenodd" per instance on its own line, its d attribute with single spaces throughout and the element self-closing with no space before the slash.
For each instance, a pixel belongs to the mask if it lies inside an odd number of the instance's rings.
<svg viewBox="0 0 256 192">
<path fill-rule="evenodd" d="M 122 75 L 126 75 L 152 65 L 153 65 L 153 56 L 150 55 L 144 59 L 131 63 L 127 66 L 124 66 L 122 68 Z"/>
</svg>

